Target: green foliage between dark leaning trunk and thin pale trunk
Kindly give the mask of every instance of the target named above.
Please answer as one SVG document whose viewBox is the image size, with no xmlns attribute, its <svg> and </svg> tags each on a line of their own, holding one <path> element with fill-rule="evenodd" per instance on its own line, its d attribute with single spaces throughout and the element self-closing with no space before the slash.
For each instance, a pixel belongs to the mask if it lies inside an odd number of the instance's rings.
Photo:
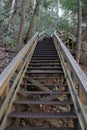
<svg viewBox="0 0 87 130">
<path fill-rule="evenodd" d="M 48 34 L 56 29 L 56 2 L 53 0 L 43 0 L 40 5 L 38 15 L 38 31 L 46 31 Z"/>
</svg>

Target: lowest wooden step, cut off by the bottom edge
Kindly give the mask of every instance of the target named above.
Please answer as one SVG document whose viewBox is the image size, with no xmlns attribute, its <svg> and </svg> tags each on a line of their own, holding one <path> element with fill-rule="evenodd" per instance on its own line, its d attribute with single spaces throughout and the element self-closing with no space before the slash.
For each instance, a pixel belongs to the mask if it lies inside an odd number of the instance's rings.
<svg viewBox="0 0 87 130">
<path fill-rule="evenodd" d="M 10 126 L 10 127 L 6 128 L 5 130 L 79 130 L 79 129 L 76 127 L 74 127 L 74 128 L 70 128 L 70 127 L 40 128 L 40 127 Z"/>
</svg>

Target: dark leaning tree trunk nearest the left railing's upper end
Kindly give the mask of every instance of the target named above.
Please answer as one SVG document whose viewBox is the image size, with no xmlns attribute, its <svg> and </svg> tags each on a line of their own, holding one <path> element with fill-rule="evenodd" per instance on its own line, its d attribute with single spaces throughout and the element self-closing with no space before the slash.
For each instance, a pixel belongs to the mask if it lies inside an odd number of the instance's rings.
<svg viewBox="0 0 87 130">
<path fill-rule="evenodd" d="M 38 15 L 39 4 L 40 4 L 40 0 L 36 0 L 35 10 L 34 10 L 32 19 L 31 19 L 31 21 L 30 21 L 30 25 L 29 25 L 29 28 L 28 28 L 27 35 L 26 35 L 25 40 L 24 40 L 25 43 L 26 43 L 26 41 L 27 41 L 28 39 L 30 39 L 30 37 L 31 37 L 32 30 L 33 30 L 33 27 L 34 27 L 34 23 L 35 23 L 35 21 L 36 21 L 37 15 Z"/>
</svg>

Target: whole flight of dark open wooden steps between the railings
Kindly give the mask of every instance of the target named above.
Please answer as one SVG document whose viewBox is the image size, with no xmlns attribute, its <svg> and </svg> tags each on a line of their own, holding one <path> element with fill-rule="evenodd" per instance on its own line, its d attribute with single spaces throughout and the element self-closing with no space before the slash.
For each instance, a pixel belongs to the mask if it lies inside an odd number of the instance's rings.
<svg viewBox="0 0 87 130">
<path fill-rule="evenodd" d="M 80 130 L 52 38 L 39 41 L 13 101 L 5 130 Z"/>
</svg>

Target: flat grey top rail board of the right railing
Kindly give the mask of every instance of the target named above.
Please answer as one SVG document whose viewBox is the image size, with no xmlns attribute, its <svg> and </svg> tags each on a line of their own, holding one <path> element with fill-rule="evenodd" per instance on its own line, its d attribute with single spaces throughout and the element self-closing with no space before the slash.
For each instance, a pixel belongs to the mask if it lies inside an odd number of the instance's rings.
<svg viewBox="0 0 87 130">
<path fill-rule="evenodd" d="M 84 74 L 84 72 L 82 71 L 82 69 L 80 68 L 80 66 L 77 64 L 76 60 L 73 58 L 73 56 L 71 55 L 71 53 L 69 52 L 69 50 L 65 47 L 65 45 L 63 44 L 62 40 L 59 38 L 59 36 L 54 33 L 55 37 L 57 38 L 59 45 L 64 53 L 64 56 L 66 57 L 67 61 L 69 62 L 73 74 L 76 77 L 79 85 L 81 86 L 82 91 L 84 92 L 84 95 L 87 98 L 87 77 Z"/>
</svg>

